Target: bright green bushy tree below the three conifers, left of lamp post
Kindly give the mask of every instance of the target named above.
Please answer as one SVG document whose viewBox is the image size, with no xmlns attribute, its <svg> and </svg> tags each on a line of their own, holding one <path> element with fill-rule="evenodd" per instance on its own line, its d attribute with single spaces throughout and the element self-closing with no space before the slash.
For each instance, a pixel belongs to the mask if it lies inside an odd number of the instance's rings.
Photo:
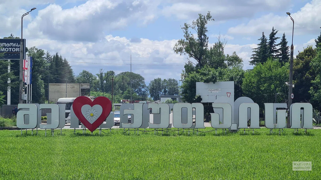
<svg viewBox="0 0 321 180">
<path fill-rule="evenodd" d="M 281 93 L 277 95 L 278 103 L 287 102 L 288 91 L 284 82 L 289 80 L 288 69 L 289 64 L 282 66 L 277 60 L 269 59 L 262 64 L 258 63 L 244 74 L 241 86 L 243 94 L 260 107 L 264 107 L 266 102 L 275 102 L 275 93 Z"/>
</svg>

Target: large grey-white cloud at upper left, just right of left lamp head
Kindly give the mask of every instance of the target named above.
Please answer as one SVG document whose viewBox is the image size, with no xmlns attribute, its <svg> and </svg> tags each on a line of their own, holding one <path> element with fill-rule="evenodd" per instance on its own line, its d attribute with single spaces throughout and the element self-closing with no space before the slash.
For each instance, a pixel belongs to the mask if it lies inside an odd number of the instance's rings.
<svg viewBox="0 0 321 180">
<path fill-rule="evenodd" d="M 39 10 L 25 33 L 29 38 L 95 42 L 104 36 L 104 32 L 126 28 L 131 20 L 137 24 L 148 23 L 155 18 L 152 13 L 155 7 L 157 4 L 149 0 L 134 3 L 89 0 L 70 9 L 50 4 Z"/>
</svg>

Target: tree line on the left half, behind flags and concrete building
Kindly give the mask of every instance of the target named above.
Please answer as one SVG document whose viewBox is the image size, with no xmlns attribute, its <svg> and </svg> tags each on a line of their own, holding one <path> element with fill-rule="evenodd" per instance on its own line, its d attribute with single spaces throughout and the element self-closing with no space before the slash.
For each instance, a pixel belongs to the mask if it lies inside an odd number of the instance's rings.
<svg viewBox="0 0 321 180">
<path fill-rule="evenodd" d="M 4 38 L 19 38 L 11 34 Z M 37 47 L 26 48 L 27 55 L 33 57 L 32 64 L 32 102 L 48 103 L 48 83 L 90 83 L 92 96 L 112 97 L 115 103 L 121 99 L 132 99 L 133 101 L 159 100 L 160 95 L 178 95 L 178 81 L 176 79 L 152 80 L 147 86 L 145 78 L 133 72 L 121 72 L 100 69 L 98 73 L 92 74 L 82 70 L 77 76 L 66 58 L 56 53 L 51 55 Z M 1 54 L 0 54 L 1 59 Z M 7 67 L 11 65 L 11 71 Z M 7 83 L 8 78 L 11 83 Z M 159 81 L 160 80 L 160 81 Z M 160 82 L 160 84 L 159 84 Z M 0 105 L 7 102 L 7 90 L 11 87 L 11 104 L 19 102 L 19 60 L 0 61 Z"/>
</svg>

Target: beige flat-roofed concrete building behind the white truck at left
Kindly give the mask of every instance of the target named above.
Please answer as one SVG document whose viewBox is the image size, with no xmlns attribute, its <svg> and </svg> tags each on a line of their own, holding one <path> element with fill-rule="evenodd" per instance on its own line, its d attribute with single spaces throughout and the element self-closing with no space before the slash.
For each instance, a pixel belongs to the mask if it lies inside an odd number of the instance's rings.
<svg viewBox="0 0 321 180">
<path fill-rule="evenodd" d="M 49 83 L 49 102 L 57 102 L 62 97 L 90 96 L 90 84 Z"/>
</svg>

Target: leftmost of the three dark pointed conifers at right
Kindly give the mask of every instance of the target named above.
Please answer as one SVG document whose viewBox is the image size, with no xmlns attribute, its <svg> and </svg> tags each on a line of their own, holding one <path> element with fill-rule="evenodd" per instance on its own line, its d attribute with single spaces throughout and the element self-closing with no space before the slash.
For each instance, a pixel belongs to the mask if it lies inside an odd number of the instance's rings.
<svg viewBox="0 0 321 180">
<path fill-rule="evenodd" d="M 257 44 L 257 48 L 253 48 L 253 53 L 251 57 L 252 61 L 250 61 L 251 65 L 256 65 L 258 63 L 264 63 L 267 61 L 269 57 L 269 47 L 267 45 L 267 38 L 264 35 L 264 32 L 262 32 L 262 37 L 258 39 L 260 41 L 259 44 Z"/>
</svg>

